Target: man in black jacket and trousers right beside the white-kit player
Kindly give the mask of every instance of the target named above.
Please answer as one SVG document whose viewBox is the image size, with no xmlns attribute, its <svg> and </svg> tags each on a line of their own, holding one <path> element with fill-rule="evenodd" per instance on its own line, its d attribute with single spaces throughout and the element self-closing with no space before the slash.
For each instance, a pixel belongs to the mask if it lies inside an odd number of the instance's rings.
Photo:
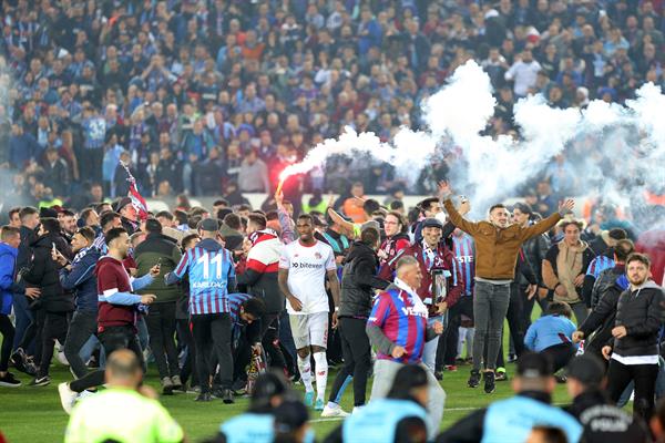
<svg viewBox="0 0 665 443">
<path fill-rule="evenodd" d="M 376 249 L 380 235 L 375 228 L 366 228 L 360 241 L 355 241 L 346 258 L 341 275 L 341 296 L 337 318 L 344 354 L 344 369 L 337 373 L 328 404 L 321 416 L 345 416 L 339 399 L 347 378 L 354 378 L 354 406 L 365 405 L 367 375 L 371 367 L 369 338 L 365 332 L 371 311 L 375 289 L 386 289 L 388 281 L 377 277 L 379 259 Z"/>
</svg>

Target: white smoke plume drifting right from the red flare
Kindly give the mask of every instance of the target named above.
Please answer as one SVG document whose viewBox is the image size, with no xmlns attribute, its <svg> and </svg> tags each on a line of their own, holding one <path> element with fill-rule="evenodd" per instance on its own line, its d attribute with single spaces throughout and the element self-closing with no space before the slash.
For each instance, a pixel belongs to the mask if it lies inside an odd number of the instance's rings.
<svg viewBox="0 0 665 443">
<path fill-rule="evenodd" d="M 489 76 L 473 61 L 458 68 L 448 84 L 421 104 L 424 131 L 401 128 L 391 143 L 372 133 L 350 128 L 338 140 L 327 140 L 306 158 L 289 166 L 283 178 L 325 165 L 330 155 L 369 154 L 396 167 L 413 184 L 434 154 L 456 153 L 451 163 L 452 186 L 470 197 L 474 215 L 515 196 L 528 181 L 542 175 L 557 154 L 572 169 L 571 196 L 591 196 L 616 205 L 643 228 L 649 218 L 647 193 L 665 194 L 665 95 L 653 84 L 636 91 L 625 106 L 593 101 L 577 109 L 553 109 L 541 95 L 520 100 L 514 121 L 520 138 L 483 135 L 494 113 L 495 100 Z M 659 214 L 659 213 L 658 213 Z"/>
</svg>

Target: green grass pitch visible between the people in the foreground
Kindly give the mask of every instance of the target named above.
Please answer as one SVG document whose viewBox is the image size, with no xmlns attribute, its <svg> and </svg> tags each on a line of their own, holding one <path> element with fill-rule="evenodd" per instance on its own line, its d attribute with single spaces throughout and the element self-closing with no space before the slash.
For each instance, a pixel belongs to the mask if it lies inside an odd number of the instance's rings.
<svg viewBox="0 0 665 443">
<path fill-rule="evenodd" d="M 441 427 L 446 429 L 467 415 L 471 411 L 488 405 L 491 401 L 503 399 L 512 394 L 510 381 L 498 382 L 497 391 L 488 395 L 478 389 L 467 388 L 469 365 L 461 365 L 457 372 L 444 372 L 441 382 L 447 393 L 446 410 Z M 513 373 L 513 365 L 509 364 L 508 373 Z M 16 372 L 14 372 L 16 373 Z M 30 379 L 25 374 L 17 374 L 23 385 L 16 389 L 0 388 L 0 430 L 9 442 L 60 442 L 64 435 L 68 415 L 60 406 L 58 383 L 70 381 L 69 370 L 58 362 L 51 369 L 51 384 L 48 387 L 28 387 Z M 328 389 L 332 384 L 334 372 L 328 379 Z M 154 367 L 150 368 L 146 378 L 147 384 L 158 388 L 158 379 Z M 371 381 L 369 383 L 371 387 Z M 301 390 L 301 387 L 297 387 Z M 161 401 L 184 427 L 190 441 L 197 442 L 215 434 L 221 422 L 239 414 L 248 404 L 247 399 L 236 399 L 233 405 L 225 405 L 221 400 L 211 403 L 196 403 L 195 395 L 175 394 L 162 396 Z M 554 402 L 565 403 L 567 395 L 565 385 L 557 385 Z M 349 387 L 342 399 L 346 411 L 352 409 L 352 389 Z M 339 425 L 335 419 L 320 419 L 319 413 L 311 411 L 313 427 L 317 440 L 321 440 Z"/>
</svg>

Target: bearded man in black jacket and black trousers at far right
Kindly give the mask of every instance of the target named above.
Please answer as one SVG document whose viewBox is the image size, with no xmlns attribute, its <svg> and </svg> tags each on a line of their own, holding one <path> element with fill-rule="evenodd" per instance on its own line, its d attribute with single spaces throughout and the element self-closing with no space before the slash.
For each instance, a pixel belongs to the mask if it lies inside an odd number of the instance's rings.
<svg viewBox="0 0 665 443">
<path fill-rule="evenodd" d="M 607 390 L 618 401 L 635 382 L 633 413 L 648 420 L 654 411 L 658 374 L 658 331 L 663 323 L 663 289 L 648 279 L 651 260 L 633 254 L 626 260 L 631 287 L 621 293 L 612 338 L 602 352 L 610 360 Z"/>
</svg>

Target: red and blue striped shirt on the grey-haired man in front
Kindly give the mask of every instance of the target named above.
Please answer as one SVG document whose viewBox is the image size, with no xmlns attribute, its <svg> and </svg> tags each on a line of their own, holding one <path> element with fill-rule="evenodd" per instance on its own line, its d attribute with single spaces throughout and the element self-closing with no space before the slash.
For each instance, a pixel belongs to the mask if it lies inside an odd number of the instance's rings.
<svg viewBox="0 0 665 443">
<path fill-rule="evenodd" d="M 367 322 L 379 327 L 388 340 L 406 349 L 401 358 L 379 352 L 378 359 L 399 363 L 419 363 L 422 360 L 427 339 L 427 308 L 422 306 L 419 309 L 413 297 L 418 296 L 398 288 L 377 296 Z"/>
</svg>

